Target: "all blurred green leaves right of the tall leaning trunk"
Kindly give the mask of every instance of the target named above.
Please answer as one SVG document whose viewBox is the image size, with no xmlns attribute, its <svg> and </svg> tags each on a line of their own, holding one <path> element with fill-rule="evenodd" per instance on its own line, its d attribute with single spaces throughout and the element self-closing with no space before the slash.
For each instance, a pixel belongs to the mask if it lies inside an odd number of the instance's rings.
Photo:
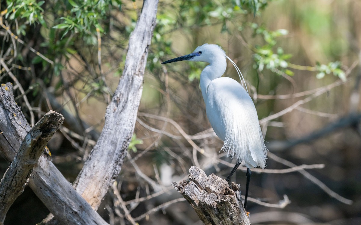
<svg viewBox="0 0 361 225">
<path fill-rule="evenodd" d="M 259 72 L 268 69 L 276 74 L 283 73 L 293 76 L 294 72 L 288 67 L 292 54 L 285 53 L 281 46 L 277 46 L 277 39 L 288 35 L 288 31 L 285 29 L 270 31 L 264 24 L 247 22 L 250 14 L 261 14 L 261 10 L 267 4 L 267 1 L 230 1 L 219 4 L 215 1 L 189 0 L 183 1 L 179 5 L 178 17 L 176 17 L 177 13 L 169 10 L 169 8 L 160 8 L 152 42 L 152 53 L 149 55 L 150 62 L 148 61 L 148 68 L 151 72 L 155 72 L 153 69 L 160 69 L 159 59 L 164 58 L 164 55 L 171 55 L 170 46 L 172 42 L 170 41 L 171 39 L 166 39 L 168 33 L 174 32 L 179 28 L 182 28 L 183 31 L 188 30 L 192 32 L 196 31 L 195 29 L 198 27 L 221 25 L 221 33 L 239 32 L 242 34 L 244 32 L 247 34 L 246 30 L 248 28 L 251 29 L 251 38 L 256 40 L 255 44 L 250 46 L 254 52 L 254 69 Z M 177 4 L 171 5 L 171 8 L 175 10 L 178 9 L 177 7 Z M 194 24 L 197 25 L 195 26 Z M 263 43 L 256 39 L 258 36 L 262 37 Z M 339 66 L 333 68 L 335 65 L 330 63 L 327 66 L 328 70 L 325 69 L 325 66 L 316 66 L 313 70 L 318 71 L 317 78 L 322 78 L 325 74 L 329 74 L 330 72 L 328 71 L 330 70 L 335 76 L 344 80 L 344 72 Z M 177 66 L 171 65 L 170 67 Z M 183 73 L 188 74 L 189 81 L 193 81 L 194 79 L 199 79 L 201 68 L 199 64 L 190 63 L 189 65 L 187 64 L 187 72 Z"/>
</svg>

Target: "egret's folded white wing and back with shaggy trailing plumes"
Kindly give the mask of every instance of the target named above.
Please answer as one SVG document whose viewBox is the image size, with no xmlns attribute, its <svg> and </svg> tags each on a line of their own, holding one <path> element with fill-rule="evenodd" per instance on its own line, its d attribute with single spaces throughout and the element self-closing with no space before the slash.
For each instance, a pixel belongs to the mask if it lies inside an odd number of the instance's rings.
<svg viewBox="0 0 361 225">
<path fill-rule="evenodd" d="M 248 168 L 265 167 L 266 147 L 257 111 L 242 85 L 229 77 L 212 80 L 207 88 L 206 112 L 222 149 Z"/>
</svg>

